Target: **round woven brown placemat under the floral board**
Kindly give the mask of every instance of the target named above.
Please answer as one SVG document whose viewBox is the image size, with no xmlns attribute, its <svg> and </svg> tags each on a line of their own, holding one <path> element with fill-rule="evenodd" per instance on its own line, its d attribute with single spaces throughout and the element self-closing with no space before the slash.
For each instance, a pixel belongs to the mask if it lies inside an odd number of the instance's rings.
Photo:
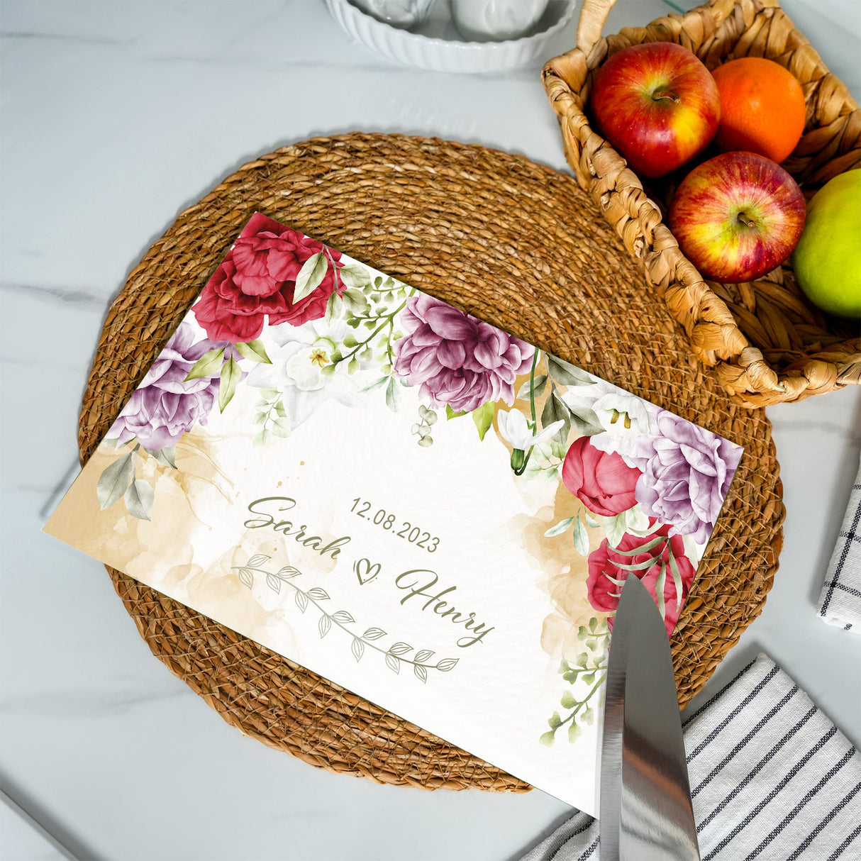
<svg viewBox="0 0 861 861">
<path fill-rule="evenodd" d="M 673 635 L 680 702 L 699 691 L 759 615 L 777 568 L 784 505 L 771 425 L 762 411 L 730 405 L 703 374 L 684 331 L 573 178 L 525 158 L 438 139 L 348 134 L 245 164 L 177 218 L 111 306 L 84 394 L 82 461 L 255 211 L 745 446 Z M 379 782 L 529 789 L 108 572 L 152 652 L 245 734 L 312 765 Z"/>
</svg>

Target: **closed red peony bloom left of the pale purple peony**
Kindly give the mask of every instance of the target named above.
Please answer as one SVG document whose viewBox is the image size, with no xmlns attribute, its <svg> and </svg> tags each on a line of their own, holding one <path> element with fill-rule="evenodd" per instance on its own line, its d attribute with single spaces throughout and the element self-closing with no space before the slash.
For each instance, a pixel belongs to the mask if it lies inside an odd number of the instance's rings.
<svg viewBox="0 0 861 861">
<path fill-rule="evenodd" d="M 562 483 L 593 514 L 614 517 L 637 504 L 634 489 L 639 469 L 621 455 L 596 449 L 589 437 L 576 440 L 562 464 Z"/>
</svg>

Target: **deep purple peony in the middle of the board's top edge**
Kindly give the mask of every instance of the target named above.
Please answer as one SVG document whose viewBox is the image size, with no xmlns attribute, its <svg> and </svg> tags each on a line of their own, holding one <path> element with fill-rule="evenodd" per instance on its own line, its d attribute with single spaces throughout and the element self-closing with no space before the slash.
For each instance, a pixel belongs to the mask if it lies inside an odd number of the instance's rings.
<svg viewBox="0 0 861 861">
<path fill-rule="evenodd" d="M 395 373 L 435 407 L 470 412 L 489 400 L 514 403 L 514 378 L 530 369 L 535 348 L 432 296 L 412 296 L 398 324 Z"/>
</svg>

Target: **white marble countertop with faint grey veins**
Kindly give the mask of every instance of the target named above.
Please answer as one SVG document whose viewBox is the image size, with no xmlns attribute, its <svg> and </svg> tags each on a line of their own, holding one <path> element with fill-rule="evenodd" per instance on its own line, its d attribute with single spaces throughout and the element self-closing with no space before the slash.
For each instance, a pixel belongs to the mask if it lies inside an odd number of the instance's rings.
<svg viewBox="0 0 861 861">
<path fill-rule="evenodd" d="M 858 97 L 856 0 L 784 7 Z M 608 28 L 666 11 L 622 0 Z M 566 805 L 377 786 L 244 738 L 152 657 L 102 566 L 40 527 L 77 456 L 108 303 L 177 213 L 239 164 L 317 134 L 440 135 L 564 169 L 536 70 L 388 65 L 322 0 L 34 0 L 0 15 L 3 789 L 81 858 L 517 856 Z M 861 391 L 768 412 L 781 567 L 709 687 L 764 649 L 858 745 L 861 637 L 821 623 L 814 602 L 858 466 Z M 61 857 L 2 810 L 3 858 Z"/>
</svg>

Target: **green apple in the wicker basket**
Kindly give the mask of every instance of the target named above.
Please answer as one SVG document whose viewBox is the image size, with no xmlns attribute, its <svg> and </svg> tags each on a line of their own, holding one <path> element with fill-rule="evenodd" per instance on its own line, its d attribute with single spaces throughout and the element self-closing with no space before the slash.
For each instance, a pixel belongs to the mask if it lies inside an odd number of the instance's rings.
<svg viewBox="0 0 861 861">
<path fill-rule="evenodd" d="M 861 318 L 861 170 L 839 174 L 813 196 L 792 265 L 814 305 Z"/>
</svg>

